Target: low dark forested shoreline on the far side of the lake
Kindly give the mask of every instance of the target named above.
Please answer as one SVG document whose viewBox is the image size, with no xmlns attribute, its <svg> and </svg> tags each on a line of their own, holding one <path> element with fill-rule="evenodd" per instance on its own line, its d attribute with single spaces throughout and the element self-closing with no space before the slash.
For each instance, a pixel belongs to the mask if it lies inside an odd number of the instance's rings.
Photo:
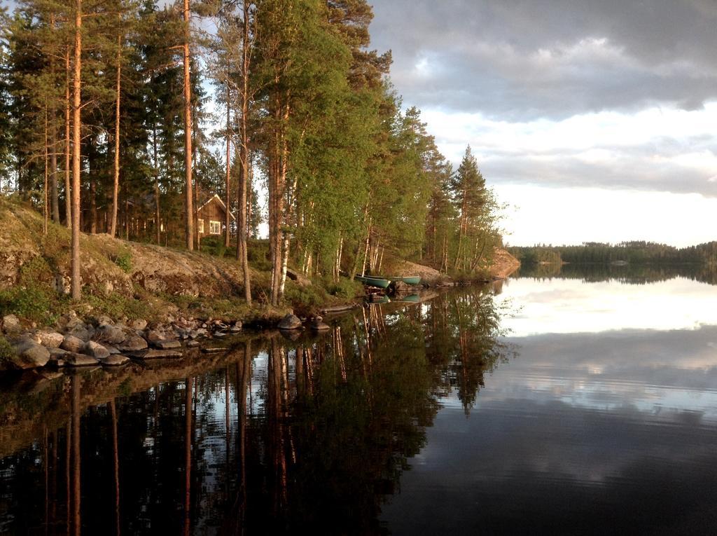
<svg viewBox="0 0 717 536">
<path fill-rule="evenodd" d="M 675 248 L 652 242 L 619 244 L 583 243 L 582 245 L 535 245 L 509 248 L 523 265 L 533 264 L 675 264 L 717 265 L 717 242 Z"/>
</svg>

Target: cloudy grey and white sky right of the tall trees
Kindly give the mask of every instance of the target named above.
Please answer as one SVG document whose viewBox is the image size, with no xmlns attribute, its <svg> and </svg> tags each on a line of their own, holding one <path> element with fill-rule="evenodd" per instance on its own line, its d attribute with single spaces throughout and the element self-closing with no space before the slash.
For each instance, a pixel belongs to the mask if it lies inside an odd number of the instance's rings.
<svg viewBox="0 0 717 536">
<path fill-rule="evenodd" d="M 511 245 L 717 240 L 714 0 L 374 0 L 404 105 Z"/>
</svg>

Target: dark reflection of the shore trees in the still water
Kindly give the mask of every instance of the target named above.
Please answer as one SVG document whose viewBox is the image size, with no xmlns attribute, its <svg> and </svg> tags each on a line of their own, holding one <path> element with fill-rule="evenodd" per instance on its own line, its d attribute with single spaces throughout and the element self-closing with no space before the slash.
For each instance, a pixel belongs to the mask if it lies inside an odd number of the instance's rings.
<svg viewBox="0 0 717 536">
<path fill-rule="evenodd" d="M 133 394 L 97 371 L 55 380 L 67 388 L 52 402 L 16 398 L 48 434 L 0 459 L 0 532 L 384 532 L 381 504 L 440 399 L 455 392 L 469 412 L 512 351 L 490 288 L 331 324 L 245 339 Z"/>
</svg>

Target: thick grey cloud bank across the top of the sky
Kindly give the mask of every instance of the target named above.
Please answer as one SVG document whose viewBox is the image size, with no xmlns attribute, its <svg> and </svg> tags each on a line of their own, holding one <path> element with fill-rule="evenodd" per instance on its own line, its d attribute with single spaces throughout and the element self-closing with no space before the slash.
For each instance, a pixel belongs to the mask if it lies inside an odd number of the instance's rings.
<svg viewBox="0 0 717 536">
<path fill-rule="evenodd" d="M 394 82 L 422 108 L 525 121 L 717 98 L 708 0 L 378 0 L 374 11 L 374 45 L 394 51 Z"/>
</svg>

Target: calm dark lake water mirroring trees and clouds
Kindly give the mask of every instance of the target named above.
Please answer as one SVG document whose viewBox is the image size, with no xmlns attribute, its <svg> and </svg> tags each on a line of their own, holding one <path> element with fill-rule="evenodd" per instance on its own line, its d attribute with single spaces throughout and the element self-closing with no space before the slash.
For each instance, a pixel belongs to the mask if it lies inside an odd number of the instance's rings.
<svg viewBox="0 0 717 536">
<path fill-rule="evenodd" d="M 717 533 L 717 286 L 533 275 L 0 378 L 0 534 Z"/>
</svg>

